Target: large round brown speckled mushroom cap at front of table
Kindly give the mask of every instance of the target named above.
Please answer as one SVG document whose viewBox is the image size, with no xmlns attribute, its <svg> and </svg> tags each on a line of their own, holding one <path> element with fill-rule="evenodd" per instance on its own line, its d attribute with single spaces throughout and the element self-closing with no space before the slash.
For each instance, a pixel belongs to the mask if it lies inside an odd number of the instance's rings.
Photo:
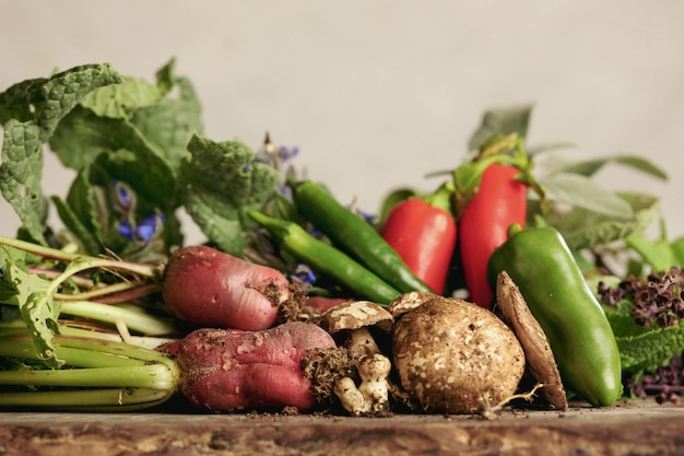
<svg viewBox="0 0 684 456">
<path fill-rule="evenodd" d="M 524 353 L 492 312 L 437 297 L 394 324 L 392 356 L 401 386 L 425 411 L 481 413 L 510 398 Z"/>
</svg>

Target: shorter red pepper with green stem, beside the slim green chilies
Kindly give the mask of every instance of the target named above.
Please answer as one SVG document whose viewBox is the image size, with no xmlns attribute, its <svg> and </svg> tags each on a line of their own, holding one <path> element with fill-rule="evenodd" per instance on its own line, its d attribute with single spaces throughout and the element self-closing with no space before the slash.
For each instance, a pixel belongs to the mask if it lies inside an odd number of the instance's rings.
<svg viewBox="0 0 684 456">
<path fill-rule="evenodd" d="M 411 197 L 387 214 L 380 235 L 435 293 L 444 293 L 456 248 L 457 224 L 451 210 L 453 183 L 427 197 Z"/>
</svg>

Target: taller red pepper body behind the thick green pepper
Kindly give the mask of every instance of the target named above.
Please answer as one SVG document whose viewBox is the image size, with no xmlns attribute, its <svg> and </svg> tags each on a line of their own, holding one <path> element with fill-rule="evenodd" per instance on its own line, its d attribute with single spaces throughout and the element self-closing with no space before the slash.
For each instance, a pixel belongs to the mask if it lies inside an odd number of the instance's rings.
<svg viewBox="0 0 684 456">
<path fill-rule="evenodd" d="M 520 169 L 494 162 L 482 173 L 476 194 L 459 217 L 459 248 L 469 301 L 488 308 L 494 291 L 487 277 L 487 262 L 507 238 L 514 223 L 524 225 L 527 189 L 517 180 Z"/>
</svg>

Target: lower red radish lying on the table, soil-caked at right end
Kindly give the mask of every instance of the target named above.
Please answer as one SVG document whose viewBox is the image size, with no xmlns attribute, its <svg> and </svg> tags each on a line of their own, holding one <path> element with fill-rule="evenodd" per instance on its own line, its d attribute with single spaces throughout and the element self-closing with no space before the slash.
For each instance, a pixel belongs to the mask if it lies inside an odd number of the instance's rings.
<svg viewBox="0 0 684 456">
<path fill-rule="evenodd" d="M 334 346 L 326 330 L 300 321 L 262 331 L 198 329 L 178 350 L 180 391 L 194 406 L 217 412 L 307 410 L 316 399 L 302 359 Z"/>
</svg>

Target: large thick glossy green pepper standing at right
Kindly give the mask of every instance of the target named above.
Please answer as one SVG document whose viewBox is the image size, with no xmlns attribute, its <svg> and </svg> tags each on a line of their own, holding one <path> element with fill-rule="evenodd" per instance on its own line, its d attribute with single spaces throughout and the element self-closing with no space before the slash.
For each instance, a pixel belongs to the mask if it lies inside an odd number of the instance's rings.
<svg viewBox="0 0 684 456">
<path fill-rule="evenodd" d="M 520 289 L 549 337 L 568 389 L 597 407 L 615 402 L 622 394 L 615 337 L 558 231 L 511 225 L 488 269 L 492 283 L 506 271 Z"/>
</svg>

